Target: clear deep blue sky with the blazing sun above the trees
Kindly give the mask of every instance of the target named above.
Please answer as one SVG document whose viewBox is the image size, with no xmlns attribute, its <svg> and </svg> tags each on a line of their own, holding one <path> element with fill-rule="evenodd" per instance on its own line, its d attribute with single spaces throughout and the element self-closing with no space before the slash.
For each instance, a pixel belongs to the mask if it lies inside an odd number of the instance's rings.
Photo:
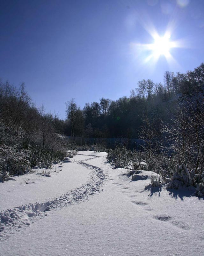
<svg viewBox="0 0 204 256">
<path fill-rule="evenodd" d="M 65 118 L 72 98 L 116 100 L 199 66 L 203 13 L 203 0 L 0 0 L 0 77 Z"/>
</svg>

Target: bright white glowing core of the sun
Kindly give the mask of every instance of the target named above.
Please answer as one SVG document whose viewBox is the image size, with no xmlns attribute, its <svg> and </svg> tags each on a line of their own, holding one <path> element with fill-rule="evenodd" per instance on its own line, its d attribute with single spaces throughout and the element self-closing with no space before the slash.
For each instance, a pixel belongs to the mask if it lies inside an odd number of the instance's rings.
<svg viewBox="0 0 204 256">
<path fill-rule="evenodd" d="M 151 50 L 156 56 L 167 56 L 171 49 L 170 34 L 164 35 L 163 37 L 157 36 L 154 43 L 151 45 Z"/>
</svg>

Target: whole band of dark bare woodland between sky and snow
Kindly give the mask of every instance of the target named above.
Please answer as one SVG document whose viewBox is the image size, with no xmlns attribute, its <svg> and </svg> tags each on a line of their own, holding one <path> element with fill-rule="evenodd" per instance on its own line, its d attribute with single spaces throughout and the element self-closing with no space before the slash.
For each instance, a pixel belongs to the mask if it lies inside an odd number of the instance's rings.
<svg viewBox="0 0 204 256">
<path fill-rule="evenodd" d="M 68 149 L 91 148 L 108 152 L 116 166 L 143 159 L 149 170 L 169 172 L 169 166 L 185 163 L 201 175 L 203 85 L 204 63 L 185 74 L 166 71 L 163 83 L 140 80 L 129 97 L 116 101 L 101 98 L 81 109 L 69 100 L 67 118 L 61 120 L 35 106 L 24 84 L 16 88 L 1 81 L 0 180 L 39 164 L 48 168 L 62 160 Z"/>
</svg>

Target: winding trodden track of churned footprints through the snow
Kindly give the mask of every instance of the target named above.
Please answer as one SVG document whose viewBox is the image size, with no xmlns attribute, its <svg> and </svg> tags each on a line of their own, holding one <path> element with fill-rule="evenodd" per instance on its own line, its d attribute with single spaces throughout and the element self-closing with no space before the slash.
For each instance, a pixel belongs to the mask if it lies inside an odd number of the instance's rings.
<svg viewBox="0 0 204 256">
<path fill-rule="evenodd" d="M 101 168 L 83 162 L 97 157 L 91 156 L 91 158 L 77 161 L 77 164 L 91 170 L 90 179 L 84 185 L 46 202 L 25 204 L 13 209 L 1 211 L 0 237 L 22 228 L 22 225 L 30 225 L 32 223 L 31 220 L 33 220 L 31 217 L 35 216 L 35 219 L 37 217 L 44 217 L 47 215 L 47 211 L 55 208 L 65 207 L 76 202 L 88 201 L 89 196 L 102 191 L 101 185 L 106 179 L 105 173 Z"/>
</svg>

